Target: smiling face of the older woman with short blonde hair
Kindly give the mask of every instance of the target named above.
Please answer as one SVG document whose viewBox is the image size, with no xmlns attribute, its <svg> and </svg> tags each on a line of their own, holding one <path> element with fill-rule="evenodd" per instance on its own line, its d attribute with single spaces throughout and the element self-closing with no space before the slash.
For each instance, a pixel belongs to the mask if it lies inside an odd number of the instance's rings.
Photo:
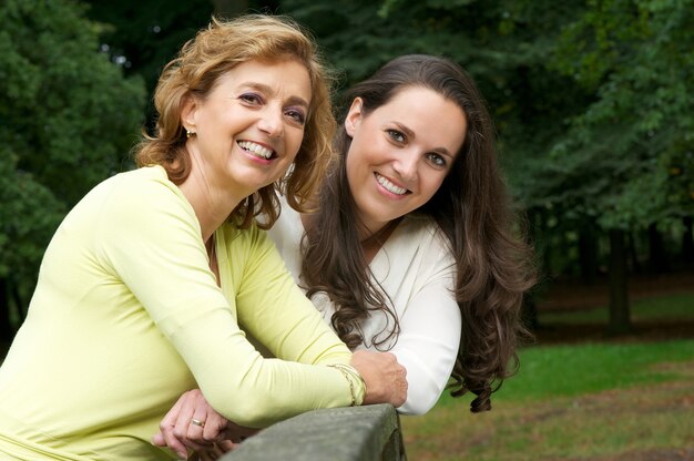
<svg viewBox="0 0 694 461">
<path fill-rule="evenodd" d="M 239 199 L 280 177 L 304 139 L 312 99 L 296 61 L 247 61 L 222 75 L 204 99 L 188 99 L 186 146 L 213 191 Z"/>
</svg>

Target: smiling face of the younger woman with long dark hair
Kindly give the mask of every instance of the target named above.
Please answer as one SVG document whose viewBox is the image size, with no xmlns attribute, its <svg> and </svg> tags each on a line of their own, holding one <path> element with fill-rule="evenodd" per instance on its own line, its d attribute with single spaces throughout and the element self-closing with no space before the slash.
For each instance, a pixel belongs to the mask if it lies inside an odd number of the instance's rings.
<svg viewBox="0 0 694 461">
<path fill-rule="evenodd" d="M 409 86 L 368 114 L 355 99 L 345 129 L 349 187 L 367 233 L 375 233 L 438 191 L 462 146 L 466 116 L 437 92 Z"/>
</svg>

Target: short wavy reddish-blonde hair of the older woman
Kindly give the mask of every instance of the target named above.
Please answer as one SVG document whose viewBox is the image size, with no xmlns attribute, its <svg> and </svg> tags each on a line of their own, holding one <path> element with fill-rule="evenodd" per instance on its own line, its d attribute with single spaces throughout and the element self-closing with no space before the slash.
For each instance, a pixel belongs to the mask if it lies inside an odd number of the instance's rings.
<svg viewBox="0 0 694 461">
<path fill-rule="evenodd" d="M 228 21 L 213 18 L 210 25 L 187 41 L 178 55 L 164 66 L 154 93 L 159 115 L 154 134 L 143 134 L 135 147 L 135 161 L 137 166 L 161 165 L 173 183 L 183 183 L 192 167 L 181 121 L 185 99 L 195 95 L 204 100 L 222 75 L 253 60 L 296 61 L 308 71 L 312 85 L 304 140 L 294 165 L 283 178 L 248 196 L 229 216 L 239 227 L 247 227 L 254 217 L 263 215 L 258 226 L 268 228 L 279 215 L 277 192 L 287 196 L 290 206 L 308 211 L 308 201 L 334 157 L 331 142 L 336 122 L 330 103 L 334 79 L 323 64 L 313 38 L 294 20 L 264 14 Z"/>
</svg>

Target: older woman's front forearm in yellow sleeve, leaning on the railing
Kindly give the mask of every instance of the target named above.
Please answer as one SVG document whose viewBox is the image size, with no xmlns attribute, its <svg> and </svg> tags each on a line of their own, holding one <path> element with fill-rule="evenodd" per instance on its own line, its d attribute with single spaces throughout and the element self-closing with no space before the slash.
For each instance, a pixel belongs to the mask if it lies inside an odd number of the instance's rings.
<svg viewBox="0 0 694 461">
<path fill-rule="evenodd" d="M 231 320 L 220 313 L 171 334 L 203 393 L 225 418 L 262 428 L 308 410 L 351 403 L 349 382 L 339 370 L 263 358 L 241 330 L 224 335 Z M 206 334 L 201 338 L 195 331 Z"/>
</svg>

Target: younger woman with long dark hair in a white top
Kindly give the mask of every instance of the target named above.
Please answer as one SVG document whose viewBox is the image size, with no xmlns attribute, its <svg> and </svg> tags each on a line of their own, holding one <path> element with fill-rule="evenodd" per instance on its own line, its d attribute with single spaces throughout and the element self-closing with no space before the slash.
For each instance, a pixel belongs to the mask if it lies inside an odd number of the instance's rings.
<svg viewBox="0 0 694 461">
<path fill-rule="evenodd" d="M 471 411 L 489 410 L 513 371 L 533 279 L 483 100 L 431 55 L 397 58 L 348 96 L 343 161 L 317 212 L 283 206 L 271 237 L 347 346 L 405 366 L 400 412 L 427 412 L 449 377 L 453 396 L 477 396 Z"/>
</svg>

